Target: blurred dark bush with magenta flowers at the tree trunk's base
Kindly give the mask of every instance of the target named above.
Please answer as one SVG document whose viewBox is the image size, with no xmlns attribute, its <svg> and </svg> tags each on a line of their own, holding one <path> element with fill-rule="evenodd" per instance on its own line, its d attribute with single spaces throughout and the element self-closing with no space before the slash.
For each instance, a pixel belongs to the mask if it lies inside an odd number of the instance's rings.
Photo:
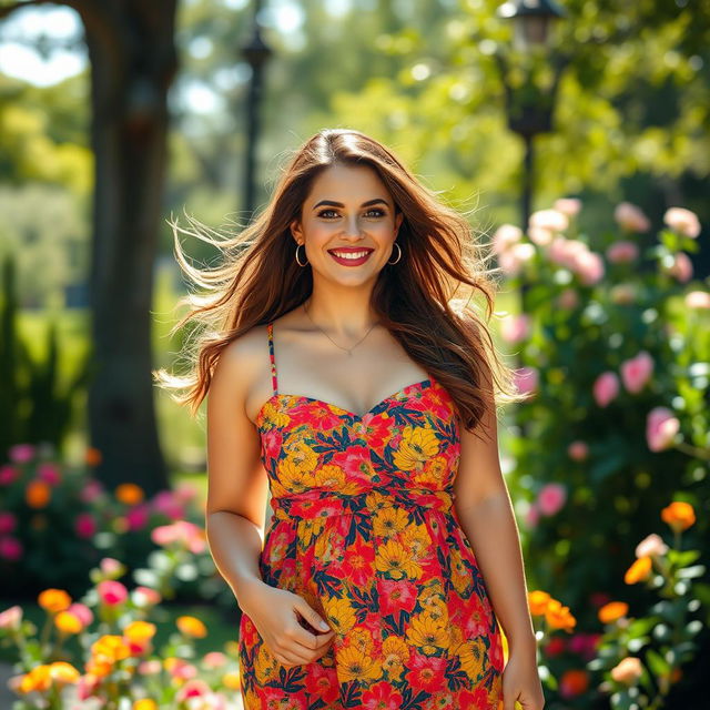
<svg viewBox="0 0 710 710">
<path fill-rule="evenodd" d="M 57 584 L 70 592 L 108 551 L 129 569 L 145 565 L 158 549 L 152 532 L 175 520 L 204 519 L 195 505 L 196 490 L 178 486 L 148 499 L 132 483 L 108 491 L 92 466 L 99 453 L 90 449 L 85 467 L 59 464 L 50 447 L 13 446 L 0 467 L 0 574 L 4 596 L 36 595 Z M 225 585 L 205 550 L 176 572 L 175 589 L 184 597 L 215 598 L 232 604 Z M 226 590 L 229 591 L 229 590 Z"/>
</svg>

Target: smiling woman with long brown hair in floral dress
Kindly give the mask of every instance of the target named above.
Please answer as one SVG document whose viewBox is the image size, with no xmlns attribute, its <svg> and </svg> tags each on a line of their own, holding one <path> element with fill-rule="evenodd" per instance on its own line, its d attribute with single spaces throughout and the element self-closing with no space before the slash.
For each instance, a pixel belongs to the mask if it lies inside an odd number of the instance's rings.
<svg viewBox="0 0 710 710">
<path fill-rule="evenodd" d="M 493 310 L 468 222 L 378 142 L 324 130 L 240 236 L 200 236 L 225 261 L 202 273 L 178 243 L 213 295 L 170 384 L 193 412 L 209 392 L 207 538 L 247 710 L 540 710 L 494 382 L 520 396 L 453 307 L 468 287 Z"/>
</svg>

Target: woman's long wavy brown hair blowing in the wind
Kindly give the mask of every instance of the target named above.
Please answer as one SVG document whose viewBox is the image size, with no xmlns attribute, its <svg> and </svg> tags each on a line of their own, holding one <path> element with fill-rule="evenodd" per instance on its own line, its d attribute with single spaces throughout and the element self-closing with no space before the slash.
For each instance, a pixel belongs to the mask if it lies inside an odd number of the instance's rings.
<svg viewBox="0 0 710 710">
<path fill-rule="evenodd" d="M 186 323 L 196 326 L 182 358 L 190 363 L 190 372 L 175 376 L 162 368 L 154 371 L 158 383 L 182 390 L 172 396 L 190 405 L 194 416 L 207 395 L 222 349 L 308 298 L 313 274 L 295 262 L 290 224 L 301 217 L 316 175 L 335 164 L 373 168 L 397 211 L 404 213 L 397 234 L 402 258 L 382 270 L 372 293 L 379 322 L 413 361 L 446 387 L 466 428 L 476 427 L 489 396 L 497 406 L 523 399 L 487 327 L 499 271 L 488 267 L 489 244 L 477 241 L 467 219 L 443 204 L 390 150 L 349 129 L 325 129 L 307 140 L 283 171 L 266 207 L 236 235 L 210 230 L 190 215 L 192 229 L 171 221 L 175 257 L 185 275 L 204 291 L 180 301 L 191 310 L 171 331 Z M 219 267 L 200 270 L 189 264 L 180 233 L 217 247 L 223 257 Z M 473 303 L 477 294 L 485 298 L 485 317 Z"/>
</svg>

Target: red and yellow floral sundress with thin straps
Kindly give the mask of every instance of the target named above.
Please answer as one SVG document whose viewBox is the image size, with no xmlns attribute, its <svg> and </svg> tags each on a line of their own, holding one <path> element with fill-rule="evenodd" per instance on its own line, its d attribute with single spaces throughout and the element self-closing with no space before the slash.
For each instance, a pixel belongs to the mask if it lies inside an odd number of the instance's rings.
<svg viewBox="0 0 710 710">
<path fill-rule="evenodd" d="M 498 710 L 501 632 L 459 524 L 459 422 L 429 377 L 364 415 L 280 394 L 257 418 L 273 515 L 262 579 L 288 589 L 335 635 L 325 656 L 283 666 L 246 613 L 246 710 Z M 303 621 L 305 625 L 306 622 Z"/>
</svg>

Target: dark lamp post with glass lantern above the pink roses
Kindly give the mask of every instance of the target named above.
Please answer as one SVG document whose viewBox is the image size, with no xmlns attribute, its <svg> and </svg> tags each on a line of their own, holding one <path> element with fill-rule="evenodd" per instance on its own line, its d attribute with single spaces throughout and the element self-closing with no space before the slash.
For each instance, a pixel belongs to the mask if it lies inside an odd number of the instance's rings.
<svg viewBox="0 0 710 710">
<path fill-rule="evenodd" d="M 539 133 L 552 130 L 552 111 L 557 97 L 557 88 L 562 70 L 569 58 L 561 53 L 549 55 L 550 24 L 565 17 L 566 12 L 555 0 L 509 0 L 498 8 L 498 16 L 513 21 L 514 47 L 526 54 L 540 49 L 548 53 L 552 65 L 554 78 L 550 88 L 542 91 L 534 85 L 532 70 L 526 70 L 525 84 L 516 90 L 508 79 L 508 59 L 499 51 L 494 52 L 498 63 L 506 95 L 508 128 L 520 135 L 525 142 L 525 162 L 523 171 L 521 229 L 528 229 L 532 204 L 532 171 L 535 162 L 534 139 Z"/>
</svg>

